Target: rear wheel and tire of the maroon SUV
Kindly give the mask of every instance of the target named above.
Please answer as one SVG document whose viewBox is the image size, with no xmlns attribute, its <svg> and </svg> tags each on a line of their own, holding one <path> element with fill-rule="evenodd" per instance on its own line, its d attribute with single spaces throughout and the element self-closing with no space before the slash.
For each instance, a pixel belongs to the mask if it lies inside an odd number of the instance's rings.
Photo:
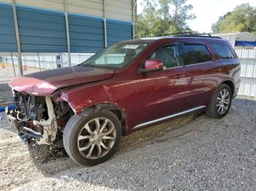
<svg viewBox="0 0 256 191">
<path fill-rule="evenodd" d="M 213 97 L 211 98 L 211 103 L 206 110 L 208 117 L 212 118 L 222 118 L 229 112 L 231 101 L 233 98 L 233 93 L 228 85 L 222 84 L 217 87 Z"/>
</svg>

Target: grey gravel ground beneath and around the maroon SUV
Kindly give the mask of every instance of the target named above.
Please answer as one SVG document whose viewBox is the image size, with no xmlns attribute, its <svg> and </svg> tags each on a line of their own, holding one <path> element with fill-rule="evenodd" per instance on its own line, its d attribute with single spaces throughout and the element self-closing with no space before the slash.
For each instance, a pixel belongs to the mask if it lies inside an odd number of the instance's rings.
<svg viewBox="0 0 256 191">
<path fill-rule="evenodd" d="M 255 137 L 256 101 L 237 98 L 221 120 L 195 113 L 145 128 L 84 167 L 61 144 L 26 147 L 0 113 L 0 190 L 256 190 Z"/>
</svg>

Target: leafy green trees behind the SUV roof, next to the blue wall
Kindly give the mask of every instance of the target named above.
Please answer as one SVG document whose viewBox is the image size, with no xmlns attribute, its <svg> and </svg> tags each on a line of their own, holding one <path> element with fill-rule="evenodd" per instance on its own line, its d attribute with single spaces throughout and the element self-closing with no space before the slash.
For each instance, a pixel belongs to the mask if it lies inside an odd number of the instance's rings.
<svg viewBox="0 0 256 191">
<path fill-rule="evenodd" d="M 144 0 L 143 12 L 137 15 L 137 38 L 191 31 L 187 21 L 195 18 L 187 0 Z"/>
</svg>

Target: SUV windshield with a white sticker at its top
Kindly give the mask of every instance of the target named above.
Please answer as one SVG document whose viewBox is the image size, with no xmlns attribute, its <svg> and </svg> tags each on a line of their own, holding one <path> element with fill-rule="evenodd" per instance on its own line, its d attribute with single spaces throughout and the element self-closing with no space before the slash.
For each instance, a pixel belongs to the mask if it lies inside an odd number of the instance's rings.
<svg viewBox="0 0 256 191">
<path fill-rule="evenodd" d="M 83 66 L 122 68 L 127 66 L 145 47 L 145 43 L 118 43 L 99 51 L 82 63 Z"/>
</svg>

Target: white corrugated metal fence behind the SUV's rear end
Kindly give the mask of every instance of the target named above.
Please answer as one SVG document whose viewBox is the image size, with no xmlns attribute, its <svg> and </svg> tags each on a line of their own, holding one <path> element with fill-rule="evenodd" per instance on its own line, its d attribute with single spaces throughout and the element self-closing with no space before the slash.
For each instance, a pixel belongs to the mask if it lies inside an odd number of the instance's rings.
<svg viewBox="0 0 256 191">
<path fill-rule="evenodd" d="M 236 50 L 241 63 L 239 95 L 256 97 L 256 50 Z"/>
</svg>

